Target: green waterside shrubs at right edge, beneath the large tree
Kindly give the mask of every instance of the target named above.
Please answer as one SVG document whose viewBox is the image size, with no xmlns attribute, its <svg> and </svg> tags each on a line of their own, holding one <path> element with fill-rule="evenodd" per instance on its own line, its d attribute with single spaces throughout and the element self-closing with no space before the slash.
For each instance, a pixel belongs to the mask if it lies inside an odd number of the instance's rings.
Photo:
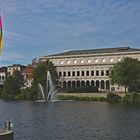
<svg viewBox="0 0 140 140">
<path fill-rule="evenodd" d="M 123 98 L 123 101 L 127 103 L 140 103 L 140 94 L 138 93 L 126 94 Z"/>
</svg>

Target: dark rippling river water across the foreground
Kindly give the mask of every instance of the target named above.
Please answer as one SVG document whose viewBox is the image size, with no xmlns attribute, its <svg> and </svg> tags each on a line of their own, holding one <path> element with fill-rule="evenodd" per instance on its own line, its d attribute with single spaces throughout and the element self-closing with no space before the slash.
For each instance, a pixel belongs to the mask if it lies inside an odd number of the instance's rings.
<svg viewBox="0 0 140 140">
<path fill-rule="evenodd" d="M 15 140 L 140 140 L 140 105 L 92 101 L 0 100 L 0 127 Z"/>
</svg>

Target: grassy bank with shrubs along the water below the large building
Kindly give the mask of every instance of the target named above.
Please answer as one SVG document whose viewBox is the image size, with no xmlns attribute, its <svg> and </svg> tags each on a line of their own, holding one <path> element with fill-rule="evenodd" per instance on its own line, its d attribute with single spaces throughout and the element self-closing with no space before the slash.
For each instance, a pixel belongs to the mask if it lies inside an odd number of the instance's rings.
<svg viewBox="0 0 140 140">
<path fill-rule="evenodd" d="M 126 103 L 140 103 L 140 93 L 101 93 L 101 94 L 59 94 L 59 100 L 84 100 L 84 101 L 106 101 L 106 102 L 126 102 Z"/>
</svg>

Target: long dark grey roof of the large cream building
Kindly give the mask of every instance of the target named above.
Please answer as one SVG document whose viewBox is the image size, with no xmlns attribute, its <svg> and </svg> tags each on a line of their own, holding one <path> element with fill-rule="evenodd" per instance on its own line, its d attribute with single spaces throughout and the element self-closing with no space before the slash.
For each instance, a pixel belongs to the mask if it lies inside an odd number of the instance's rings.
<svg viewBox="0 0 140 140">
<path fill-rule="evenodd" d="M 96 54 L 96 53 L 117 53 L 117 52 L 132 52 L 132 51 L 140 51 L 137 48 L 130 47 L 117 47 L 117 48 L 100 48 L 100 49 L 88 49 L 88 50 L 72 50 L 66 51 L 62 53 L 57 53 L 49 56 L 66 56 L 66 55 L 82 55 L 82 54 Z"/>
</svg>

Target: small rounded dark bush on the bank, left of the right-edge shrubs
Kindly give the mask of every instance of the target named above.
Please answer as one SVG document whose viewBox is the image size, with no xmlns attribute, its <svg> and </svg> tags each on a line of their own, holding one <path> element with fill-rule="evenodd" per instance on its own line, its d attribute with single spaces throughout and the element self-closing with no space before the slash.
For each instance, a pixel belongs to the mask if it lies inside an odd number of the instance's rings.
<svg viewBox="0 0 140 140">
<path fill-rule="evenodd" d="M 106 97 L 107 102 L 119 102 L 121 100 L 121 97 L 118 94 L 115 93 L 108 93 Z"/>
</svg>

